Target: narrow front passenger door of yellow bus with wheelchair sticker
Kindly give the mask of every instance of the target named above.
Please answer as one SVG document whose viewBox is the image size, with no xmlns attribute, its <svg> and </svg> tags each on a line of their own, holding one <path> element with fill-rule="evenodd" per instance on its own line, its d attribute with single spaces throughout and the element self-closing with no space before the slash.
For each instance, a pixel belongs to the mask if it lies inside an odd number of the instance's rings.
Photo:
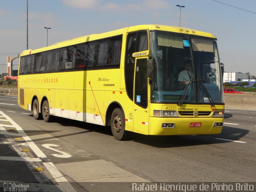
<svg viewBox="0 0 256 192">
<path fill-rule="evenodd" d="M 133 131 L 141 134 L 148 134 L 148 78 L 146 73 L 147 58 L 136 58 Z"/>
</svg>

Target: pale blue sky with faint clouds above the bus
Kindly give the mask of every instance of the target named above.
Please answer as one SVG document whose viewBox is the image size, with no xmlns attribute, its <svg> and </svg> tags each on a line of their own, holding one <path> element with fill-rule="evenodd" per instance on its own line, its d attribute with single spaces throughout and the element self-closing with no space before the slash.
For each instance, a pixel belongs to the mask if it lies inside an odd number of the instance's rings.
<svg viewBox="0 0 256 192">
<path fill-rule="evenodd" d="M 26 50 L 26 2 L 0 0 L 0 74 L 6 72 L 7 56 Z M 138 24 L 179 26 L 177 4 L 185 6 L 182 27 L 216 36 L 225 72 L 256 76 L 255 0 L 28 0 L 28 48 L 46 46 L 44 27 L 51 28 L 51 45 Z M 18 59 L 13 64 L 17 70 Z"/>
</svg>

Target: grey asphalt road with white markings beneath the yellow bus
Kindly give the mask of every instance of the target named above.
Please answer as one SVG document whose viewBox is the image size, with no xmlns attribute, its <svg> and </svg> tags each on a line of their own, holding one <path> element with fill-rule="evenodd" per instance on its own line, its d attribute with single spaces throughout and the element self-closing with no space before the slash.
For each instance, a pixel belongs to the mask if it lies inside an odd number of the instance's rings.
<svg viewBox="0 0 256 192">
<path fill-rule="evenodd" d="M 14 181 L 29 184 L 27 191 L 77 192 L 107 191 L 112 182 L 109 191 L 132 191 L 132 182 L 255 182 L 256 110 L 224 116 L 218 135 L 118 141 L 103 126 L 34 120 L 17 97 L 0 96 L 0 191 L 1 182 Z"/>
</svg>

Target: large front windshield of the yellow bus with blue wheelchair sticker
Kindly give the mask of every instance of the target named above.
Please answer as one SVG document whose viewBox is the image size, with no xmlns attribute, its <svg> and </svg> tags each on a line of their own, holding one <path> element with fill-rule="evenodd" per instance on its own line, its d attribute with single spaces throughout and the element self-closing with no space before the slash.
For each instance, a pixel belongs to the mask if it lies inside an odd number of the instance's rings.
<svg viewBox="0 0 256 192">
<path fill-rule="evenodd" d="M 215 39 L 160 31 L 151 32 L 150 38 L 151 102 L 224 103 Z"/>
</svg>

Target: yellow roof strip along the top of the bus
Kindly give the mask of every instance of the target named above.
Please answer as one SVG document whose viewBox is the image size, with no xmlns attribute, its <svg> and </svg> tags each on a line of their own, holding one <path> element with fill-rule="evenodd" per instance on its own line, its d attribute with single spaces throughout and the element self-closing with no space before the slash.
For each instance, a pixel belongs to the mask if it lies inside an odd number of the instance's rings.
<svg viewBox="0 0 256 192">
<path fill-rule="evenodd" d="M 43 48 L 39 48 L 39 49 L 35 49 L 35 50 L 32 50 L 32 49 L 24 50 L 22 52 L 21 56 L 34 54 L 34 53 L 38 53 L 38 52 L 43 52 L 43 51 L 47 51 L 47 50 L 52 50 L 52 49 L 57 49 L 57 48 L 61 48 L 61 47 L 66 47 L 66 46 L 70 46 L 73 44 L 80 44 L 83 42 L 107 38 L 110 36 L 117 36 L 117 35 L 123 34 L 124 32 L 133 32 L 133 31 L 138 31 L 138 30 L 160 30 L 160 31 L 176 32 L 176 33 L 181 33 L 181 34 L 189 34 L 189 35 L 203 36 L 203 37 L 216 39 L 216 37 L 213 34 L 208 33 L 208 32 L 202 32 L 202 31 L 198 31 L 198 30 L 193 30 L 193 29 L 184 28 L 184 27 L 177 27 L 177 26 L 147 24 L 147 25 L 130 26 L 130 27 L 126 27 L 126 28 L 122 28 L 122 29 L 118 29 L 118 30 L 104 32 L 101 34 L 90 34 L 90 35 L 54 43 L 51 46 L 43 47 Z"/>
</svg>

